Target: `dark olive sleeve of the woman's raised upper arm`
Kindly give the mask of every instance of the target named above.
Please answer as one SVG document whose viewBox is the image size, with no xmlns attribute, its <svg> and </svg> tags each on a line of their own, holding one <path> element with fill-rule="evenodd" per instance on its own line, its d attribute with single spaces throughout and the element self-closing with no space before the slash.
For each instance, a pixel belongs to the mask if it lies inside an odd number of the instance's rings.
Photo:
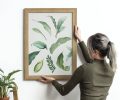
<svg viewBox="0 0 120 100">
<path fill-rule="evenodd" d="M 87 49 L 85 43 L 83 41 L 81 41 L 81 42 L 78 43 L 78 45 L 80 46 L 80 48 L 82 50 L 85 61 L 88 62 L 88 63 L 92 62 L 92 59 L 91 59 L 91 57 L 88 53 L 88 49 Z"/>
</svg>

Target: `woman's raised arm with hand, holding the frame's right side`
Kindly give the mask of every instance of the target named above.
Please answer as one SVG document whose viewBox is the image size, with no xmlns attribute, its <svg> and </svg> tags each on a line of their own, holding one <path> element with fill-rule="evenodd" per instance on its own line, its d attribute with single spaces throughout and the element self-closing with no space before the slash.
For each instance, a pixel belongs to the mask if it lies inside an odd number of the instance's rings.
<svg viewBox="0 0 120 100">
<path fill-rule="evenodd" d="M 79 44 L 79 46 L 80 46 L 80 48 L 82 50 L 85 61 L 88 62 L 88 63 L 92 62 L 92 59 L 91 59 L 91 57 L 90 57 L 90 55 L 88 53 L 88 49 L 87 49 L 85 43 L 81 40 L 80 30 L 79 30 L 79 28 L 77 26 L 75 26 L 75 37 L 79 41 L 78 44 Z"/>
</svg>

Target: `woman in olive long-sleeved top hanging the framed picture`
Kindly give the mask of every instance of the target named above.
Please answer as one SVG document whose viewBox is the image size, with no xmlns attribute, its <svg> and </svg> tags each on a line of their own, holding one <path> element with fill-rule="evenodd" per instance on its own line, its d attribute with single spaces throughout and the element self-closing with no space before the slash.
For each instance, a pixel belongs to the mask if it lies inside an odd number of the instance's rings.
<svg viewBox="0 0 120 100">
<path fill-rule="evenodd" d="M 86 63 L 78 67 L 64 85 L 58 83 L 53 77 L 42 76 L 40 81 L 52 83 L 61 95 L 68 94 L 79 84 L 81 100 L 106 100 L 116 71 L 114 45 L 106 35 L 96 33 L 88 38 L 87 50 L 84 42 L 81 41 L 77 26 L 75 37 L 79 41 Z M 108 57 L 109 64 L 105 61 L 105 57 Z"/>
</svg>

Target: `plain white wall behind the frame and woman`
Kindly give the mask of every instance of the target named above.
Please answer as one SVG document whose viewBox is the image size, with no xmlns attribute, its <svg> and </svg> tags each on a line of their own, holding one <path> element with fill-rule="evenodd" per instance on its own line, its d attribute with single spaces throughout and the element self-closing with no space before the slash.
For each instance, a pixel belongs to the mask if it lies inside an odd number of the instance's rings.
<svg viewBox="0 0 120 100">
<path fill-rule="evenodd" d="M 119 100 L 119 5 L 119 0 L 0 0 L 0 67 L 6 73 L 13 69 L 23 69 L 24 8 L 77 8 L 78 26 L 84 40 L 93 33 L 102 32 L 116 44 L 118 70 L 107 100 Z M 78 58 L 78 66 L 79 64 L 81 63 Z M 51 85 L 24 81 L 22 72 L 16 76 L 19 100 L 79 100 L 78 86 L 70 94 L 62 97 Z"/>
</svg>

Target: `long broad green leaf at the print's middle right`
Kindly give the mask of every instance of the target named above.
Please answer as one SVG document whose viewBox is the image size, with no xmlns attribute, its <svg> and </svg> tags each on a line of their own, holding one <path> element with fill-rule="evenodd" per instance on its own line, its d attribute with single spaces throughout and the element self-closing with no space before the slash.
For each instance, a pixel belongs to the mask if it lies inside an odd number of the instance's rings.
<svg viewBox="0 0 120 100">
<path fill-rule="evenodd" d="M 59 38 L 56 43 L 53 43 L 50 47 L 50 53 L 52 54 L 56 48 L 58 48 L 60 45 L 66 43 L 67 41 L 71 40 L 70 37 L 63 37 Z"/>
</svg>

